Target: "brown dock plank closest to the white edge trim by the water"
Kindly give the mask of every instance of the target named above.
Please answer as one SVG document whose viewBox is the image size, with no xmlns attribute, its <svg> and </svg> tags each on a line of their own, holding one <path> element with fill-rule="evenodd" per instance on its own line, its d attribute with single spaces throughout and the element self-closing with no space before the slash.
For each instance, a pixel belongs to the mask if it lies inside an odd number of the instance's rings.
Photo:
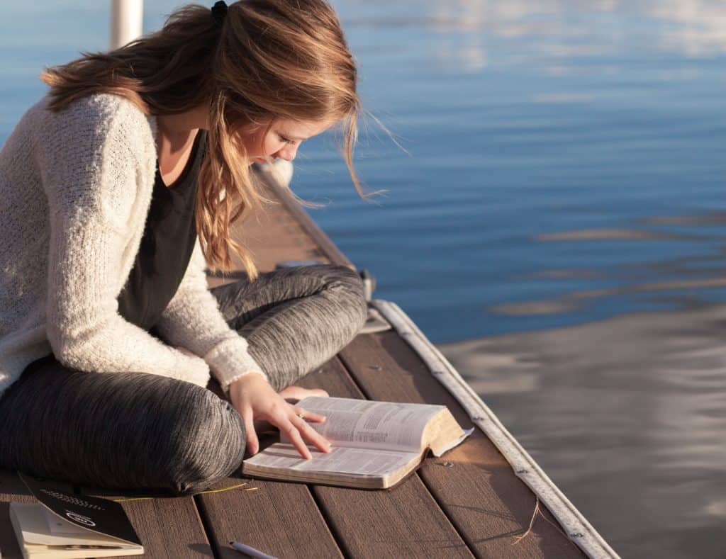
<svg viewBox="0 0 726 559">
<path fill-rule="evenodd" d="M 396 332 L 356 336 L 340 358 L 368 397 L 446 405 L 462 426 L 471 425 L 466 411 Z M 582 557 L 541 503 L 542 516 L 518 539 L 529 527 L 536 497 L 478 428 L 445 457 L 428 457 L 419 475 L 477 555 Z"/>
</svg>

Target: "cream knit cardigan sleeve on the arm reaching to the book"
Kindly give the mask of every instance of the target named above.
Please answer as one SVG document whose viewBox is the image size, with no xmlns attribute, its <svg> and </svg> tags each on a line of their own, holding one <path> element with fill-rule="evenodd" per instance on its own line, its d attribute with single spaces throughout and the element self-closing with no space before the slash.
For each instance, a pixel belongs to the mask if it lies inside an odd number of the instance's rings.
<svg viewBox="0 0 726 559">
<path fill-rule="evenodd" d="M 204 357 L 225 393 L 232 381 L 248 373 L 259 373 L 269 380 L 248 353 L 247 340 L 229 328 L 221 315 L 219 303 L 207 287 L 204 268 L 197 239 L 181 285 L 156 324 L 159 334 L 169 343 Z"/>
</svg>

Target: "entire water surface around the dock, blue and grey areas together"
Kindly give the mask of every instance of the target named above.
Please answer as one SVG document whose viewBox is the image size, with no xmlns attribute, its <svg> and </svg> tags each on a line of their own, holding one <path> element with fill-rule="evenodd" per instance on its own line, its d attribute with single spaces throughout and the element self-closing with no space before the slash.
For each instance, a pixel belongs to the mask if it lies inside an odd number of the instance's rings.
<svg viewBox="0 0 726 559">
<path fill-rule="evenodd" d="M 370 122 L 370 204 L 332 138 L 304 145 L 314 219 L 624 557 L 726 556 L 725 4 L 335 5 L 407 152 Z M 0 16 L 4 141 L 108 8 Z"/>
</svg>

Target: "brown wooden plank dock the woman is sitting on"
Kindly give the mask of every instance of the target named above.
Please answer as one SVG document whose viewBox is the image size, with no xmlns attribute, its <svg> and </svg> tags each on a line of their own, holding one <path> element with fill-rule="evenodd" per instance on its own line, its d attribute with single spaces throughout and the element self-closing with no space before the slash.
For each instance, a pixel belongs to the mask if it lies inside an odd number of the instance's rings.
<svg viewBox="0 0 726 559">
<path fill-rule="evenodd" d="M 351 265 L 294 199 L 268 182 L 280 205 L 235 233 L 253 249 L 259 268 L 272 270 L 285 260 Z M 222 281 L 210 278 L 211 285 Z M 443 404 L 460 425 L 473 425 L 457 399 L 392 329 L 359 334 L 299 384 L 339 397 Z M 66 489 L 102 494 L 83 487 Z M 7 502 L 28 500 L 32 497 L 17 475 L 0 470 L 3 558 L 21 557 Z M 428 457 L 414 475 L 388 491 L 259 481 L 236 474 L 194 497 L 125 500 L 122 505 L 148 558 L 243 557 L 229 546 L 232 540 L 279 558 L 584 555 L 479 428 L 443 457 Z"/>
</svg>

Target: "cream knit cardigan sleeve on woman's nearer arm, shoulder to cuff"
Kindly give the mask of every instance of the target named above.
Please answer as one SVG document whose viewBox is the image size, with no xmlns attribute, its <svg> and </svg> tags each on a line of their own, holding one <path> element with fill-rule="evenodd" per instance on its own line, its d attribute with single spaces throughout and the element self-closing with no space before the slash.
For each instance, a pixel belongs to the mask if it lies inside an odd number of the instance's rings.
<svg viewBox="0 0 726 559">
<path fill-rule="evenodd" d="M 46 334 L 54 355 L 79 370 L 152 373 L 206 386 L 204 360 L 118 314 L 131 216 L 144 211 L 138 196 L 147 171 L 138 144 L 150 142 L 139 133 L 144 115 L 128 103 L 79 107 L 50 118 L 45 133 Z"/>
</svg>

